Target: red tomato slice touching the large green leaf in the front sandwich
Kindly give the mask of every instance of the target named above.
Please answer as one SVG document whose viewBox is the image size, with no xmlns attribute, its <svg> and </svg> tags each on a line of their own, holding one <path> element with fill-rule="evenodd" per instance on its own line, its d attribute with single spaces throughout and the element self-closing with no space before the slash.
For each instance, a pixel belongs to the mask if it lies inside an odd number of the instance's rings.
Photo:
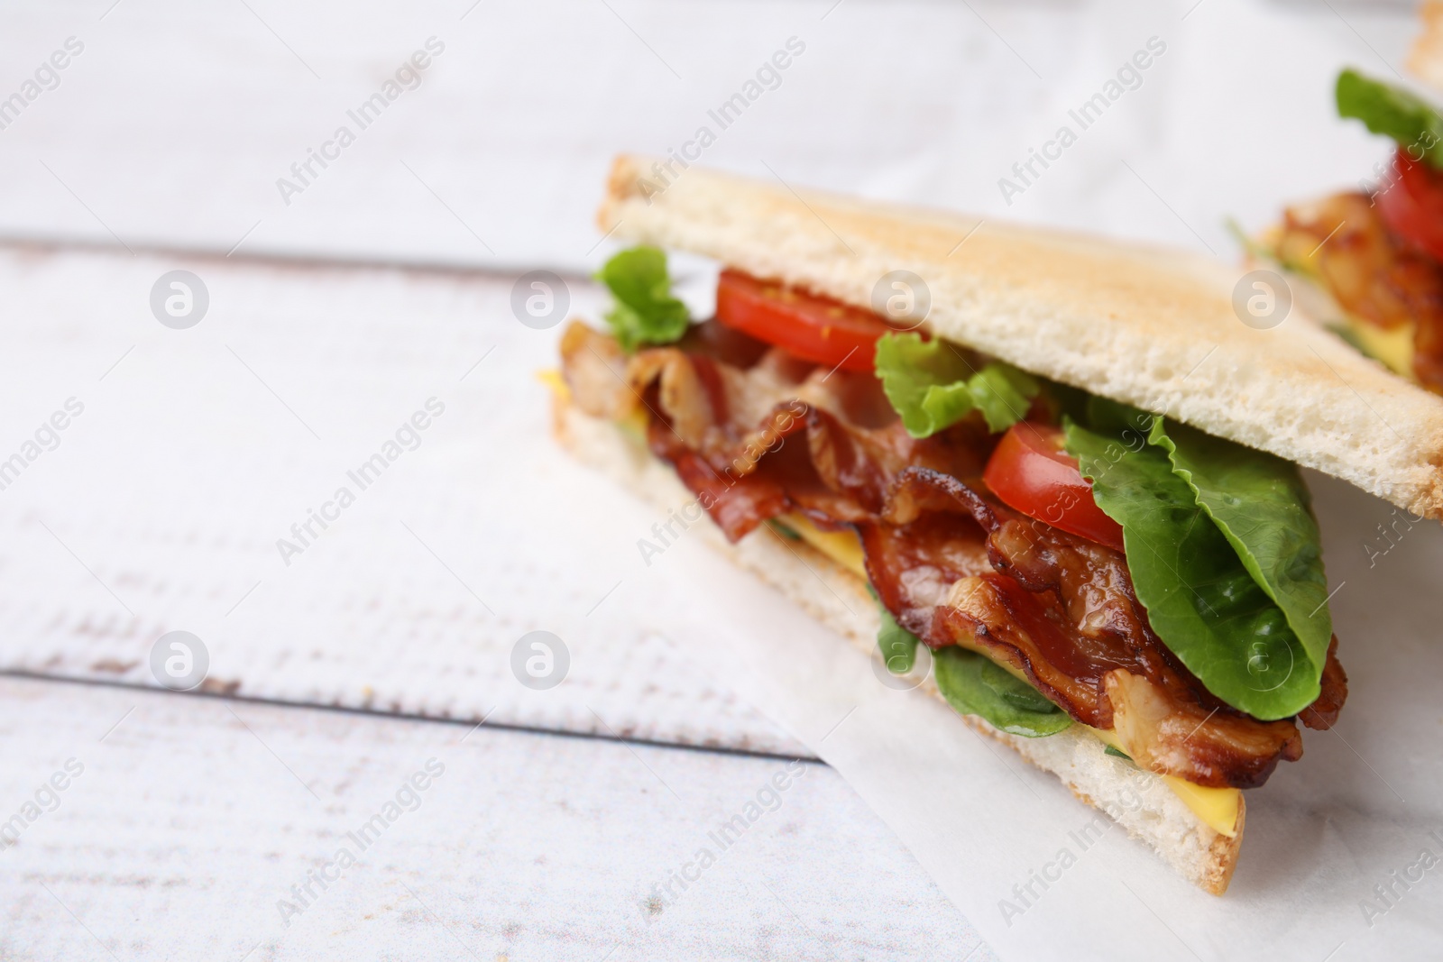
<svg viewBox="0 0 1443 962">
<path fill-rule="evenodd" d="M 1076 459 L 1062 450 L 1062 428 L 1019 421 L 1007 428 L 983 480 L 1009 508 L 1053 528 L 1123 550 L 1123 526 L 1102 513 Z"/>
</svg>

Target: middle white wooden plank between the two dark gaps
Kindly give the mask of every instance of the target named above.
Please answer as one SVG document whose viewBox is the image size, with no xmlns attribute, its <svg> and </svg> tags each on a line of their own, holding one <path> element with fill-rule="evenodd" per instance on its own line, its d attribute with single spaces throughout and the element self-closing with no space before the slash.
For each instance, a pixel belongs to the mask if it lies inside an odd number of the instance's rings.
<svg viewBox="0 0 1443 962">
<path fill-rule="evenodd" d="M 147 301 L 177 267 L 209 287 L 188 330 Z M 0 492 L 0 666 L 156 685 L 188 630 L 212 689 L 808 754 L 635 607 L 658 518 L 550 441 L 560 327 L 518 323 L 509 278 L 12 248 L 0 286 L 0 460 L 84 405 Z M 429 400 L 416 450 L 352 480 Z M 558 687 L 514 672 L 534 630 Z"/>
</svg>

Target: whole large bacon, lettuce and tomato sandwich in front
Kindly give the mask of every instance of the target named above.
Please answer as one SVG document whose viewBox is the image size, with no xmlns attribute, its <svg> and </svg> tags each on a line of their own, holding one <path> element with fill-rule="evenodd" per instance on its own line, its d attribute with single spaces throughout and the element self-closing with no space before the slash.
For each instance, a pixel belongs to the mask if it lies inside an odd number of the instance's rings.
<svg viewBox="0 0 1443 962">
<path fill-rule="evenodd" d="M 616 160 L 599 226 L 635 247 L 550 375 L 560 441 L 667 512 L 642 557 L 707 531 L 879 676 L 929 656 L 1221 894 L 1244 793 L 1348 695 L 1299 466 L 1440 518 L 1443 400 L 1241 323 L 1209 260 L 677 163 Z M 668 251 L 720 265 L 714 317 Z"/>
</svg>

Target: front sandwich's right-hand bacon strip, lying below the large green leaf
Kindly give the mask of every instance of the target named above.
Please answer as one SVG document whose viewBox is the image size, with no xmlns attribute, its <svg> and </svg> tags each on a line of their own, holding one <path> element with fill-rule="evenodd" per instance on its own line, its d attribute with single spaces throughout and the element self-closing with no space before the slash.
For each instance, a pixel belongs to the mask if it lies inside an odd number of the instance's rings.
<svg viewBox="0 0 1443 962">
<path fill-rule="evenodd" d="M 981 648 L 1078 721 L 1111 728 L 1133 760 L 1196 785 L 1253 787 L 1303 753 L 1291 720 L 1258 721 L 1218 698 L 1153 633 L 1121 552 L 990 500 L 955 477 L 908 469 L 893 516 L 944 495 L 988 532 L 994 573 L 964 578 L 934 648 Z"/>
</svg>

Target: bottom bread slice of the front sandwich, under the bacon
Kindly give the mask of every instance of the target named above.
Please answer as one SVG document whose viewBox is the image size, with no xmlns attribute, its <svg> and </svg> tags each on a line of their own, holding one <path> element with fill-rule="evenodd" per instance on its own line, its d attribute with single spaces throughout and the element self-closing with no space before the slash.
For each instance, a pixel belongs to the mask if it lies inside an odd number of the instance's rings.
<svg viewBox="0 0 1443 962">
<path fill-rule="evenodd" d="M 668 464 L 615 424 L 589 417 L 557 397 L 553 425 L 557 440 L 577 460 L 602 470 L 657 508 L 681 509 L 696 500 Z M 856 574 L 805 542 L 788 542 L 758 531 L 729 544 L 710 522 L 698 524 L 697 529 L 736 564 L 869 656 L 877 656 L 876 607 Z M 825 587 L 818 584 L 818 577 Z M 922 688 L 942 697 L 931 675 Z M 1216 896 L 1227 890 L 1242 844 L 1244 808 L 1238 811 L 1237 834 L 1229 838 L 1199 819 L 1160 777 L 1108 756 L 1104 743 L 1084 725 L 1043 738 L 1023 738 L 999 731 L 975 715 L 962 715 L 962 720 L 1058 776 L 1081 800 L 1101 809 L 1133 838 L 1147 842 L 1177 874 Z"/>
</svg>

